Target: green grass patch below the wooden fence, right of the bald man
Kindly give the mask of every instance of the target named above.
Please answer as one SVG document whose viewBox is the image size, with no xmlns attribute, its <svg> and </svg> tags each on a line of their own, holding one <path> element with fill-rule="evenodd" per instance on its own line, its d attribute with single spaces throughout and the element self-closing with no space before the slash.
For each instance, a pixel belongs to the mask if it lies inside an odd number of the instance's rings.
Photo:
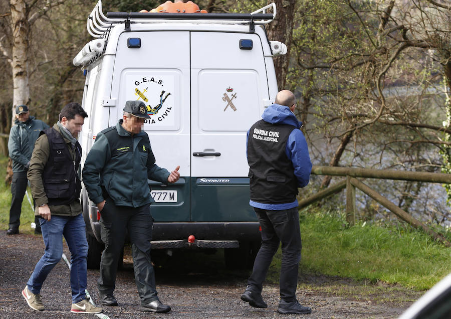
<svg viewBox="0 0 451 319">
<path fill-rule="evenodd" d="M 300 212 L 301 273 L 339 276 L 424 290 L 451 272 L 451 250 L 401 222 L 347 227 L 338 214 Z M 281 251 L 270 281 L 278 282 Z"/>
</svg>

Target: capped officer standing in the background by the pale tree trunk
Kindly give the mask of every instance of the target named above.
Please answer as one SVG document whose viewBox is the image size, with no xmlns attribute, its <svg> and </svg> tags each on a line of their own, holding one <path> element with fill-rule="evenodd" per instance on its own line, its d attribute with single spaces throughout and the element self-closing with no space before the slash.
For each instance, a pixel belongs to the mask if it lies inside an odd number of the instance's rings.
<svg viewBox="0 0 451 319">
<path fill-rule="evenodd" d="M 30 116 L 27 105 L 16 107 L 16 122 L 11 127 L 10 138 L 8 140 L 8 150 L 13 160 L 13 183 L 11 184 L 10 227 L 8 235 L 19 234 L 21 224 L 22 201 L 27 190 L 27 171 L 30 166 L 30 158 L 35 147 L 35 142 L 39 137 L 39 132 L 50 126 L 41 120 Z M 41 232 L 39 223 L 35 218 L 36 230 Z"/>
</svg>

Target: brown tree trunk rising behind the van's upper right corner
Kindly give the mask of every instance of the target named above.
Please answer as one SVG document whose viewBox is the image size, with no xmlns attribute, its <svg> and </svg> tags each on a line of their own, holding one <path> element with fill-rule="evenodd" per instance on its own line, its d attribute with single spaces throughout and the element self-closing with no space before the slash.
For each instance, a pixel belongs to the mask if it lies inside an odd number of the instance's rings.
<svg viewBox="0 0 451 319">
<path fill-rule="evenodd" d="M 286 55 L 273 58 L 276 69 L 277 86 L 279 90 L 285 88 L 290 62 L 290 47 L 293 39 L 293 21 L 296 8 L 295 0 L 275 0 L 277 17 L 267 26 L 269 40 L 285 43 L 288 48 Z"/>
</svg>

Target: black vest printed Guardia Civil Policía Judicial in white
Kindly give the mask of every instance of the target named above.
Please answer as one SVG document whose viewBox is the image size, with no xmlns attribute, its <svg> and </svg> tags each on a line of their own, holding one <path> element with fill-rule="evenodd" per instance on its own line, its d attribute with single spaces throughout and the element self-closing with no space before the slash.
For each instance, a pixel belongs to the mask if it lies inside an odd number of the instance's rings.
<svg viewBox="0 0 451 319">
<path fill-rule="evenodd" d="M 264 204 L 292 203 L 298 194 L 291 159 L 285 152 L 288 136 L 296 127 L 260 120 L 248 138 L 251 200 Z"/>
</svg>

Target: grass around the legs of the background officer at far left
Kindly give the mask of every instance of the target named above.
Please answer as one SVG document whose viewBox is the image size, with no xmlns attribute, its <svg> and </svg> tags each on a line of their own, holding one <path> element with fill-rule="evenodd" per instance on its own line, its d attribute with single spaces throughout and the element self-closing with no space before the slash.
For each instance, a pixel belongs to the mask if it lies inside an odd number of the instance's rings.
<svg viewBox="0 0 451 319">
<path fill-rule="evenodd" d="M 5 183 L 7 166 L 8 157 L 0 156 L 0 229 L 5 231 L 9 227 L 11 208 L 11 186 Z M 30 188 L 27 188 L 27 192 L 33 203 Z M 24 201 L 22 202 L 21 226 L 19 227 L 19 231 L 24 234 L 34 234 L 34 230 L 31 228 L 31 223 L 34 221 L 35 213 L 28 202 L 27 195 L 25 195 Z"/>
</svg>

